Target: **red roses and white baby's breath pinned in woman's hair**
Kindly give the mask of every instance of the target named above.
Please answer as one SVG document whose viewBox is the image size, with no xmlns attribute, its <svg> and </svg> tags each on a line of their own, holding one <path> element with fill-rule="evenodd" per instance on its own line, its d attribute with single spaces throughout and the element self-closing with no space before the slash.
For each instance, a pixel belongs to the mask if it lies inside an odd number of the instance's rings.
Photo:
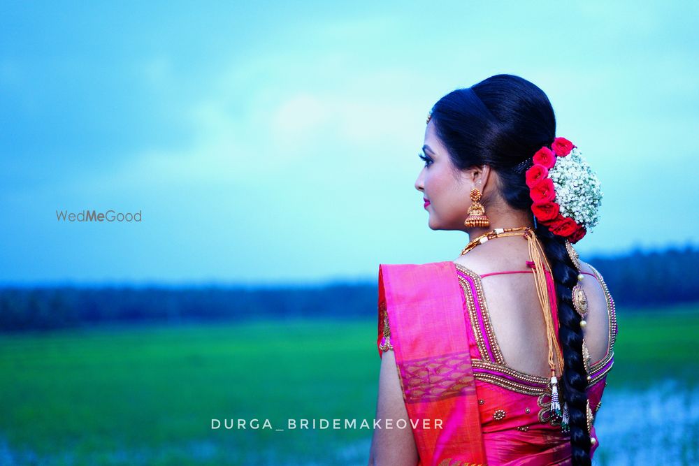
<svg viewBox="0 0 699 466">
<path fill-rule="evenodd" d="M 534 217 L 554 235 L 578 242 L 599 221 L 602 191 L 597 175 L 565 138 L 555 138 L 530 160 L 525 179 Z"/>
</svg>

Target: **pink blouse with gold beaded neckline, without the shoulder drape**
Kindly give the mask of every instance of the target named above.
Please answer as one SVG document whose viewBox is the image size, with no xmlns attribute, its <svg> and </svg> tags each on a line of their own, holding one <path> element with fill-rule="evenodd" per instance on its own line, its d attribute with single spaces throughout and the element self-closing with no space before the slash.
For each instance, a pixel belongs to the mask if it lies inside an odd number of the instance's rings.
<svg viewBox="0 0 699 466">
<path fill-rule="evenodd" d="M 484 298 L 482 277 L 497 275 L 478 275 L 472 270 L 455 263 L 456 273 L 461 284 L 463 310 L 467 320 L 467 332 L 470 337 L 469 353 L 473 362 L 475 388 L 480 409 L 480 421 L 483 432 L 484 448 L 489 464 L 519 464 L 525 452 L 545 455 L 552 463 L 570 458 L 570 434 L 561 432 L 560 418 L 549 414 L 551 391 L 549 379 L 534 374 L 526 374 L 505 365 Z M 587 393 L 593 419 L 600 409 L 602 393 L 607 385 L 607 373 L 614 364 L 614 342 L 617 339 L 617 317 L 614 300 L 605 281 L 595 268 L 593 273 L 583 272 L 595 277 L 605 293 L 607 317 L 609 319 L 609 344 L 607 354 L 592 363 L 585 351 L 586 367 L 589 367 L 591 379 Z M 521 273 L 528 273 L 521 271 Z M 383 336 L 379 349 L 393 349 L 388 314 L 383 315 Z M 544 436 L 547 442 L 541 442 Z M 591 436 L 596 440 L 594 425 Z M 592 453 L 599 446 L 593 444 Z"/>
</svg>

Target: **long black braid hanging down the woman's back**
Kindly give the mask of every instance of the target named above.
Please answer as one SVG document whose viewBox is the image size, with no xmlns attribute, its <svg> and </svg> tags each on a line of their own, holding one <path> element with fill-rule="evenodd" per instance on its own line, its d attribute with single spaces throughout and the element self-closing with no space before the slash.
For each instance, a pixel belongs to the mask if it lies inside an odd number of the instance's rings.
<svg viewBox="0 0 699 466">
<path fill-rule="evenodd" d="M 538 224 L 537 238 L 544 247 L 556 283 L 556 300 L 559 309 L 559 337 L 563 349 L 563 400 L 568 402 L 570 416 L 570 446 L 572 464 L 589 466 L 590 435 L 587 431 L 587 372 L 582 356 L 581 317 L 572 307 L 572 287 L 577 283 L 577 270 L 565 249 L 565 240 Z M 561 402 L 563 405 L 563 402 Z"/>
</svg>

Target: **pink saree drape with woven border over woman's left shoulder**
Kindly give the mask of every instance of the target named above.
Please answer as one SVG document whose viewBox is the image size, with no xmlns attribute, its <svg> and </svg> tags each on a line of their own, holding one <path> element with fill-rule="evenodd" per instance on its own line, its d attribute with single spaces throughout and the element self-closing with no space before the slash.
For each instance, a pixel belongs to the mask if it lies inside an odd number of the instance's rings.
<svg viewBox="0 0 699 466">
<path fill-rule="evenodd" d="M 391 338 L 410 420 L 426 419 L 432 427 L 442 420 L 442 429 L 423 428 L 422 422 L 413 429 L 419 465 L 485 464 L 453 265 L 380 265 L 379 296 L 396 329 Z"/>
</svg>

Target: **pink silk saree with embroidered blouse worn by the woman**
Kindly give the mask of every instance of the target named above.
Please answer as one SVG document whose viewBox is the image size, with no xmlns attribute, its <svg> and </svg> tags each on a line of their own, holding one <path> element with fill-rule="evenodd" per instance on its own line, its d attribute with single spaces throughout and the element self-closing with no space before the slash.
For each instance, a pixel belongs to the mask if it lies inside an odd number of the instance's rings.
<svg viewBox="0 0 699 466">
<path fill-rule="evenodd" d="M 588 396 L 596 413 L 613 363 L 617 326 L 612 297 L 593 272 L 588 275 L 602 284 L 610 316 L 610 347 L 590 371 Z M 452 261 L 379 267 L 377 345 L 381 356 L 390 322 L 403 400 L 410 421 L 417 421 L 411 428 L 418 464 L 570 464 L 570 437 L 561 432 L 560 419 L 549 416 L 548 379 L 504 364 L 481 278 Z M 435 419 L 442 420 L 442 428 L 434 428 Z M 594 427 L 591 435 L 597 439 Z"/>
</svg>

